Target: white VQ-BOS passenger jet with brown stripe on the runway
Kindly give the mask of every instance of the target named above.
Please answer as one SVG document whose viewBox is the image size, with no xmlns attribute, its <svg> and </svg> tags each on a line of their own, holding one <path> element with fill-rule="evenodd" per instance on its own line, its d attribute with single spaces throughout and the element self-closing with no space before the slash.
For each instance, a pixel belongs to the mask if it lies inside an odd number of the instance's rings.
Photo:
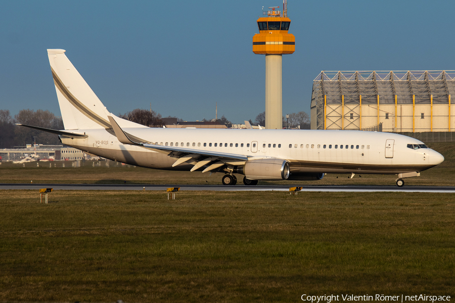
<svg viewBox="0 0 455 303">
<path fill-rule="evenodd" d="M 444 161 L 423 142 L 393 133 L 338 130 L 150 128 L 110 113 L 63 49 L 48 49 L 65 130 L 63 144 L 135 166 L 223 173 L 224 185 L 321 180 L 326 173 L 404 178 Z"/>
</svg>

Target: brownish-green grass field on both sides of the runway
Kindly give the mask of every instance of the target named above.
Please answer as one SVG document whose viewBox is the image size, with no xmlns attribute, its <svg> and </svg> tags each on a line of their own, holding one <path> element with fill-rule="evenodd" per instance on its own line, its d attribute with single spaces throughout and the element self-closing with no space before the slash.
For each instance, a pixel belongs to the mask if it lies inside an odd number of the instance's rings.
<svg viewBox="0 0 455 303">
<path fill-rule="evenodd" d="M 436 145 L 446 161 L 406 185 L 455 185 L 453 144 Z M 219 184 L 221 177 L 52 164 L 3 163 L 0 183 Z M 329 174 L 299 184 L 395 186 L 394 179 Z M 49 200 L 39 204 L 36 190 L 0 191 L 0 301 L 455 295 L 455 194 L 191 191 L 172 201 L 155 191 L 57 190 Z"/>
</svg>

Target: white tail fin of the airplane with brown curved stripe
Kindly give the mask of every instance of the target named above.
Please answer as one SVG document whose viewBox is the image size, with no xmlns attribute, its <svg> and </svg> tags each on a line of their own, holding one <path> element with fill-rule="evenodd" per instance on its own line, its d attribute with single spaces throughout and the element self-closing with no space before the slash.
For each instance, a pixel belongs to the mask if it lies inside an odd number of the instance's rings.
<svg viewBox="0 0 455 303">
<path fill-rule="evenodd" d="M 49 63 L 65 129 L 111 128 L 109 112 L 65 56 L 48 49 Z"/>
</svg>

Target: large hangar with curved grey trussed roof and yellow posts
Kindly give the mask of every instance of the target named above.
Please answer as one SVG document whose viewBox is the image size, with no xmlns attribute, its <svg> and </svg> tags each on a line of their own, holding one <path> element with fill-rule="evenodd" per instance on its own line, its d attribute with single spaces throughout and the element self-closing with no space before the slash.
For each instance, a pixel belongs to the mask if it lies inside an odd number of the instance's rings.
<svg viewBox="0 0 455 303">
<path fill-rule="evenodd" d="M 311 129 L 452 132 L 454 93 L 455 71 L 322 71 Z"/>
</svg>

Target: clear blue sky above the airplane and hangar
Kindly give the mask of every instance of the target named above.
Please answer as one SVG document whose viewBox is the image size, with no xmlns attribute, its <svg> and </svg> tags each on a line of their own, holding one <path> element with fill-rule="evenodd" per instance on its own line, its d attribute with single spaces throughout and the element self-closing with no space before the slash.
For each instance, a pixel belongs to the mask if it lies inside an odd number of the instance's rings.
<svg viewBox="0 0 455 303">
<path fill-rule="evenodd" d="M 114 114 L 136 108 L 234 123 L 265 109 L 256 20 L 282 1 L 0 0 L 0 109 L 60 116 L 47 48 L 66 55 Z M 454 1 L 289 0 L 283 114 L 309 113 L 321 70 L 455 70 Z"/>
</svg>

